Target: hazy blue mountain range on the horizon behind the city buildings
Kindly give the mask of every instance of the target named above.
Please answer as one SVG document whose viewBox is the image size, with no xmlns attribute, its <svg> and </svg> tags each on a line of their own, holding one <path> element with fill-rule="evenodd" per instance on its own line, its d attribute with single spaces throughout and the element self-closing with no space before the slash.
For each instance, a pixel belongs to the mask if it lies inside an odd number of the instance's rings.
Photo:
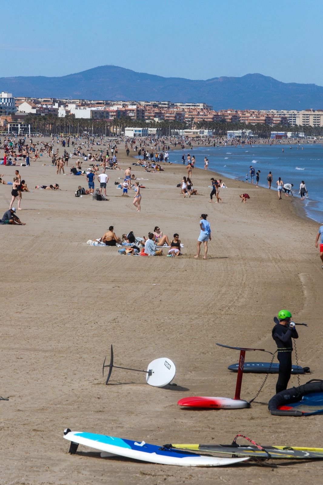
<svg viewBox="0 0 323 485">
<path fill-rule="evenodd" d="M 113 65 L 62 77 L 0 78 L 13 96 L 208 103 L 213 109 L 303 110 L 323 108 L 323 87 L 285 83 L 261 74 L 194 81 L 164 78 Z"/>
</svg>

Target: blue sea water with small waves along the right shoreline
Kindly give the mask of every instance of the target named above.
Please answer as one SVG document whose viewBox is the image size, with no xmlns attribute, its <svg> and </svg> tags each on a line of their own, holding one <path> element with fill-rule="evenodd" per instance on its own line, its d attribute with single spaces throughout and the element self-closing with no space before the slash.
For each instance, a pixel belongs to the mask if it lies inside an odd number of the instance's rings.
<svg viewBox="0 0 323 485">
<path fill-rule="evenodd" d="M 284 149 L 284 152 L 282 151 Z M 195 167 L 204 168 L 204 158 L 209 159 L 209 170 L 214 170 L 227 178 L 245 181 L 250 165 L 260 170 L 259 183 L 268 188 L 267 175 L 272 172 L 272 190 L 277 190 L 276 180 L 281 177 L 284 183 L 292 183 L 293 194 L 299 197 L 299 186 L 304 180 L 308 191 L 304 208 L 307 215 L 315 221 L 323 221 L 323 146 L 307 145 L 226 145 L 219 147 L 203 146 L 169 152 L 169 162 L 182 163 L 182 155 L 195 157 Z M 186 162 L 185 162 L 186 164 Z M 187 175 L 186 168 L 183 175 Z M 256 176 L 255 176 L 256 183 Z M 247 192 L 247 184 L 245 189 Z M 285 195 L 283 195 L 285 196 Z M 291 194 L 290 194 L 291 196 Z"/>
</svg>

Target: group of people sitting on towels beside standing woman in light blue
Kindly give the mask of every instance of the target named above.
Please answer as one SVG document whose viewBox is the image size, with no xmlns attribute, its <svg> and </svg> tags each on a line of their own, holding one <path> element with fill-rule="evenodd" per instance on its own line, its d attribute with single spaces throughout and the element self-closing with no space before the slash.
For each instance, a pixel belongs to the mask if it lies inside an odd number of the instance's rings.
<svg viewBox="0 0 323 485">
<path fill-rule="evenodd" d="M 167 245 L 168 256 L 180 256 L 180 240 L 177 233 L 174 234 L 172 241 L 162 234 L 160 228 L 155 226 L 154 232 L 149 232 L 148 238 L 136 237 L 132 231 L 128 234 L 122 234 L 121 238 L 117 237 L 113 231 L 113 226 L 109 227 L 109 230 L 103 234 L 100 239 L 95 239 L 97 242 L 104 242 L 106 246 L 122 246 L 129 245 L 136 252 L 143 256 L 161 256 L 162 247 Z"/>
</svg>

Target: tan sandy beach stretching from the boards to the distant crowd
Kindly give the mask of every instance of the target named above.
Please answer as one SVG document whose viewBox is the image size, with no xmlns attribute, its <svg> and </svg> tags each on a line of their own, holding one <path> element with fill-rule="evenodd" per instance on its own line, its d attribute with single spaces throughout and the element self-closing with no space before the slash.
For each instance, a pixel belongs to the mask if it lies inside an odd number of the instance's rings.
<svg viewBox="0 0 323 485">
<path fill-rule="evenodd" d="M 124 145 L 118 160 L 122 171 L 107 171 L 108 202 L 75 197 L 79 184 L 87 188 L 86 178 L 55 175 L 48 157 L 31 159 L 31 167 L 1 166 L 6 181 L 18 168 L 32 193 L 23 194 L 18 214 L 26 226 L 0 229 L 0 395 L 9 397 L 0 401 L 0 484 L 208 485 L 242 477 L 247 484 L 320 483 L 320 461 L 195 469 L 103 459 L 81 446 L 76 455 L 67 453 L 66 427 L 159 445 L 229 444 L 242 433 L 262 445 L 323 446 L 322 416 L 270 415 L 276 375 L 268 377 L 250 409 L 177 406 L 178 399 L 191 395 L 233 397 L 236 374 L 227 366 L 239 353 L 216 342 L 274 352 L 273 317 L 281 308 L 308 324 L 300 327 L 297 354 L 299 365 L 309 366 L 312 374 L 301 375 L 301 384 L 322 378 L 322 269 L 314 247 L 319 225 L 305 217 L 296 197 L 278 201 L 275 191 L 224 179 L 223 204 L 210 204 L 214 173 L 195 168 L 192 180 L 201 195 L 184 199 L 176 185 L 187 176 L 185 167 L 167 164 L 164 172 L 146 174 L 132 167 Z M 132 196 L 122 197 L 114 185 L 129 165 L 136 177 L 148 179 L 140 213 Z M 62 190 L 34 189 L 53 183 Z M 246 204 L 239 198 L 244 192 L 250 195 Z M 1 216 L 10 199 L 11 186 L 0 185 Z M 212 241 L 207 260 L 203 249 L 195 260 L 204 212 Z M 117 248 L 86 244 L 110 225 L 117 236 L 130 230 L 147 236 L 155 226 L 172 239 L 178 232 L 183 255 L 123 257 Z M 153 388 L 144 374 L 120 369 L 105 386 L 102 364 L 111 344 L 115 365 L 146 369 L 154 358 L 169 357 L 176 364 L 177 387 Z M 246 360 L 268 356 L 249 353 Z M 294 353 L 292 359 L 295 364 Z M 256 395 L 263 377 L 244 375 L 242 399 Z M 297 376 L 291 377 L 293 385 Z"/>
</svg>

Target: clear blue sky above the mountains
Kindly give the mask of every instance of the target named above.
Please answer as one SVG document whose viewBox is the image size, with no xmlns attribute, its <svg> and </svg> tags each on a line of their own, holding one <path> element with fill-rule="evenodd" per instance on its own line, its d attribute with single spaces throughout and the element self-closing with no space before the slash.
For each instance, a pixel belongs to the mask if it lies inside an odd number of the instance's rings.
<svg viewBox="0 0 323 485">
<path fill-rule="evenodd" d="M 0 77 L 113 64 L 323 86 L 322 0 L 2 0 Z"/>
</svg>

